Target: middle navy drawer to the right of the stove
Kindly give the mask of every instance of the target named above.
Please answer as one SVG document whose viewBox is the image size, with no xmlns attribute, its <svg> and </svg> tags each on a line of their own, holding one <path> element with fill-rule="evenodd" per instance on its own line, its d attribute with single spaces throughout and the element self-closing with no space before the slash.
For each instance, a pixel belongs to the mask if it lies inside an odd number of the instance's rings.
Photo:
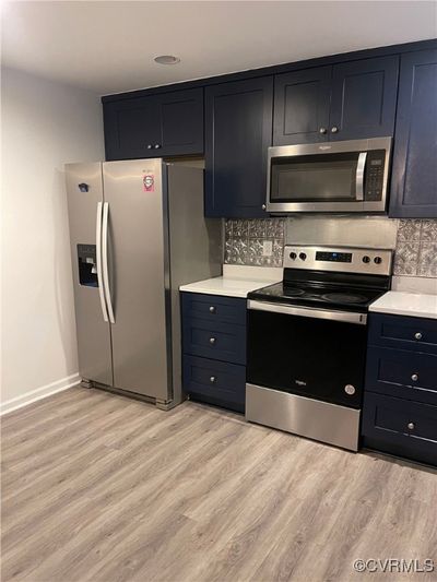
<svg viewBox="0 0 437 582">
<path fill-rule="evenodd" d="M 366 390 L 437 405 L 437 356 L 369 347 Z"/>
</svg>

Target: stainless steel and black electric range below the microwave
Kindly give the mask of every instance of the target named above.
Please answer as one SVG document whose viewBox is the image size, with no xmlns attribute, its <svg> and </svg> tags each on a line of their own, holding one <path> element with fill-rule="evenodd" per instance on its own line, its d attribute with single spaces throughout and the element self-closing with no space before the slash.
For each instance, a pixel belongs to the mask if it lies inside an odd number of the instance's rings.
<svg viewBox="0 0 437 582">
<path fill-rule="evenodd" d="M 248 295 L 246 418 L 358 449 L 368 306 L 392 252 L 287 246 L 282 283 Z"/>
</svg>

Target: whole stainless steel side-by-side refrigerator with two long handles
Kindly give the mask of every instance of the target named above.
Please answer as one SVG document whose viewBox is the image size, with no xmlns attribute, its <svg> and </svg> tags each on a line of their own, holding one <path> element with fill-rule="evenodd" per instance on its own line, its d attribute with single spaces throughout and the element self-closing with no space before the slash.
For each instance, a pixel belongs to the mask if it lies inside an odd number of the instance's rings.
<svg viewBox="0 0 437 582">
<path fill-rule="evenodd" d="M 182 400 L 179 285 L 221 273 L 203 170 L 162 159 L 66 165 L 84 385 Z"/>
</svg>

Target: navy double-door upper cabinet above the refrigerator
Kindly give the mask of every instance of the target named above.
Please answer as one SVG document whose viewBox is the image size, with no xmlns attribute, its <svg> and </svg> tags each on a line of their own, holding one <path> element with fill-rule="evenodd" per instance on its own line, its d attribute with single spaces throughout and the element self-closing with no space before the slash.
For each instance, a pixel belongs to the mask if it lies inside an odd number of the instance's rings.
<svg viewBox="0 0 437 582">
<path fill-rule="evenodd" d="M 104 104 L 106 159 L 203 153 L 203 88 Z"/>
</svg>

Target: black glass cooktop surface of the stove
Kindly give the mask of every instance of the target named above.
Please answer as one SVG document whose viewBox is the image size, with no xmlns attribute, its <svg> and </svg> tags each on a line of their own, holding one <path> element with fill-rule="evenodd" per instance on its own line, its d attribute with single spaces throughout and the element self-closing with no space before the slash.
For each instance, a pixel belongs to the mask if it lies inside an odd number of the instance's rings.
<svg viewBox="0 0 437 582">
<path fill-rule="evenodd" d="M 386 290 L 357 287 L 344 288 L 315 283 L 275 283 L 249 293 L 248 299 L 281 302 L 323 309 L 365 312 Z"/>
</svg>

